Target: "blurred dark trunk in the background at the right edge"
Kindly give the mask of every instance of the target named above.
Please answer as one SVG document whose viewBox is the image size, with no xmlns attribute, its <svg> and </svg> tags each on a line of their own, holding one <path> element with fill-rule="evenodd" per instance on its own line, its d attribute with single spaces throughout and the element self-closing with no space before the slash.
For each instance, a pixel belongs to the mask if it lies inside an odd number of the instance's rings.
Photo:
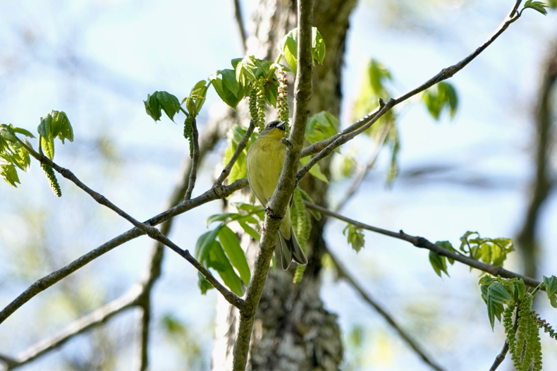
<svg viewBox="0 0 557 371">
<path fill-rule="evenodd" d="M 555 83 L 557 80 L 557 42 L 553 42 L 546 56 L 544 66 L 541 68 L 541 82 L 537 97 L 534 122 L 536 124 L 536 137 L 534 156 L 536 173 L 530 184 L 530 195 L 525 220 L 518 233 L 517 245 L 522 253 L 524 273 L 532 278 L 537 278 L 537 226 L 539 214 L 552 186 L 550 174 L 550 154 L 553 141 L 551 135 L 552 102 L 555 97 Z"/>
</svg>

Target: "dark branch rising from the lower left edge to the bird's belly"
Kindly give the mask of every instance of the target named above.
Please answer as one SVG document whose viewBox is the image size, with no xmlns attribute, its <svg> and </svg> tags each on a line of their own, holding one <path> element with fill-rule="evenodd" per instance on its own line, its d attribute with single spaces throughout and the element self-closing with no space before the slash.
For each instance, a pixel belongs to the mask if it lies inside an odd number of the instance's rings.
<svg viewBox="0 0 557 371">
<path fill-rule="evenodd" d="M 158 214 L 156 217 L 152 217 L 145 223 L 151 226 L 156 226 L 157 224 L 160 224 L 167 219 L 176 217 L 176 215 L 183 214 L 184 212 L 187 212 L 190 209 L 194 209 L 195 207 L 199 207 L 200 205 L 204 205 L 207 202 L 228 197 L 228 195 L 231 195 L 231 193 L 235 192 L 236 190 L 245 188 L 247 185 L 247 178 L 242 178 L 238 179 L 238 181 L 235 181 L 231 185 L 220 185 L 219 187 L 213 187 L 207 190 L 207 192 L 203 193 L 202 195 L 193 198 L 192 200 L 182 202 L 180 203 L 180 205 L 171 207 L 171 209 Z M 42 279 L 39 279 L 34 284 L 29 286 L 29 288 L 23 291 L 23 293 L 21 293 L 16 299 L 9 303 L 6 308 L 0 311 L 0 323 L 4 322 L 4 320 L 6 320 L 6 318 L 8 318 L 13 312 L 18 310 L 18 308 L 27 303 L 27 301 L 36 296 L 38 293 L 41 293 L 50 286 L 56 284 L 56 282 L 85 266 L 85 264 L 97 259 L 97 257 L 108 253 L 110 250 L 118 247 L 119 245 L 122 245 L 123 243 L 131 241 L 139 236 L 143 236 L 144 234 L 146 233 L 139 228 L 130 229 L 129 231 L 122 233 L 120 236 L 113 238 L 111 241 L 108 241 L 100 245 L 98 248 L 91 250 L 89 253 L 82 255 L 77 260 L 74 260 L 70 264 L 66 265 L 66 267 L 63 267 L 55 272 L 52 272 L 51 274 L 48 274 L 47 276 L 44 276 Z"/>
</svg>

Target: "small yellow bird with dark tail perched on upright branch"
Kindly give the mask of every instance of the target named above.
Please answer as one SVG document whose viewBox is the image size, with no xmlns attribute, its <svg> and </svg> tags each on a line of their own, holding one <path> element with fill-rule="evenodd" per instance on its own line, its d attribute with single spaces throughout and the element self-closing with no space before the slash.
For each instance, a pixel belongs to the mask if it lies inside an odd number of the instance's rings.
<svg viewBox="0 0 557 371">
<path fill-rule="evenodd" d="M 250 182 L 250 188 L 255 197 L 264 206 L 267 205 L 276 184 L 279 183 L 286 154 L 286 146 L 281 142 L 285 130 L 285 121 L 271 121 L 247 150 L 247 180 Z M 290 267 L 292 260 L 300 265 L 307 264 L 307 257 L 300 248 L 300 243 L 292 228 L 290 205 L 286 207 L 286 214 L 279 227 L 277 245 L 281 248 L 281 264 L 285 271 Z"/>
</svg>

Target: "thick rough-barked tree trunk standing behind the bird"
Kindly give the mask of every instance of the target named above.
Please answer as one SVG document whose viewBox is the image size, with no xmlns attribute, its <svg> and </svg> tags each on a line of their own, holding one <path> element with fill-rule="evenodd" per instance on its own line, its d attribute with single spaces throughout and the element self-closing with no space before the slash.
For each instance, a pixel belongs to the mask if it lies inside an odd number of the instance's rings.
<svg viewBox="0 0 557 371">
<path fill-rule="evenodd" d="M 355 4 L 355 0 L 314 3 L 313 25 L 324 37 L 326 57 L 322 66 L 314 67 L 310 114 L 323 110 L 335 116 L 340 114 L 345 37 L 348 16 Z M 247 39 L 247 53 L 274 60 L 283 35 L 296 27 L 295 3 L 261 0 L 253 20 L 255 30 Z M 329 160 L 320 164 L 328 174 Z M 326 183 L 307 176 L 301 186 L 317 204 L 326 206 Z M 323 308 L 319 298 L 321 256 L 325 251 L 323 229 L 324 221 L 314 223 L 307 246 L 310 262 L 300 284 L 292 283 L 294 267 L 288 272 L 281 269 L 269 272 L 255 317 L 247 370 L 336 370 L 341 364 L 343 346 L 337 317 Z M 249 243 L 247 238 L 243 242 L 249 245 L 248 260 L 253 260 L 258 244 Z M 238 311 L 220 297 L 218 300 L 212 367 L 226 370 L 231 367 Z"/>
</svg>

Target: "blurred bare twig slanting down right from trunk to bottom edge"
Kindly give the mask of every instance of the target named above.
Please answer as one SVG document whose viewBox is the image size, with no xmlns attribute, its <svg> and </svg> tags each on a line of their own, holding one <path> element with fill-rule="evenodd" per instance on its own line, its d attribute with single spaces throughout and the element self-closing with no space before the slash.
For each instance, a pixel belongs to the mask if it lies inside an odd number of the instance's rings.
<svg viewBox="0 0 557 371">
<path fill-rule="evenodd" d="M 371 305 L 379 313 L 379 315 L 381 315 L 381 317 L 383 317 L 386 320 L 388 324 L 391 325 L 391 327 L 398 333 L 398 335 L 400 335 L 400 337 L 404 341 L 406 341 L 406 343 L 408 343 L 410 348 L 412 348 L 418 355 L 420 355 L 420 358 L 422 358 L 422 360 L 424 360 L 425 363 L 427 363 L 434 370 L 442 371 L 443 368 L 437 365 L 433 360 L 429 358 L 428 355 L 426 355 L 424 350 L 421 348 L 420 344 L 418 344 L 414 339 L 412 339 L 412 336 L 410 336 L 410 334 L 407 334 L 403 329 L 401 329 L 398 323 L 396 323 L 396 321 L 393 319 L 393 317 L 391 317 L 391 315 L 389 315 L 388 312 L 379 303 L 377 303 L 369 295 L 369 293 L 364 291 L 362 286 L 360 286 L 360 284 L 358 284 L 355 281 L 355 279 L 352 276 L 350 276 L 350 274 L 348 274 L 348 272 L 346 271 L 345 267 L 343 267 L 341 262 L 339 262 L 338 259 L 331 253 L 331 250 L 327 250 L 327 252 L 331 256 L 331 259 L 333 260 L 333 263 L 335 264 L 336 269 L 338 270 L 339 276 L 345 279 L 346 281 L 348 281 L 348 283 L 350 283 L 356 289 L 356 291 L 360 293 L 362 298 L 364 298 L 364 300 L 369 305 Z"/>
</svg>

